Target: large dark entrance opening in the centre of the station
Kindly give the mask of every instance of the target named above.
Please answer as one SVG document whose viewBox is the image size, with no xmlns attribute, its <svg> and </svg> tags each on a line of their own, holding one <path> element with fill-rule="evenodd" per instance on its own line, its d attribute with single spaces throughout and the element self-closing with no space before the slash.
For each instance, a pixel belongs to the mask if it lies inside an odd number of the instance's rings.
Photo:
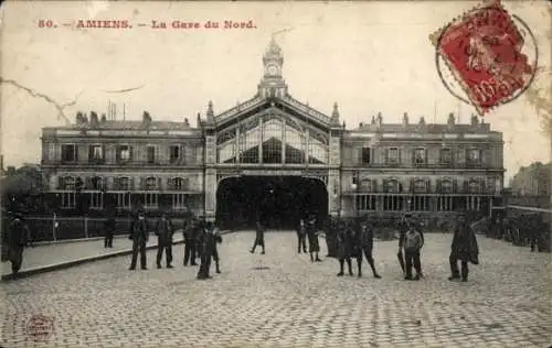
<svg viewBox="0 0 552 348">
<path fill-rule="evenodd" d="M 223 228 L 295 228 L 314 214 L 320 224 L 328 216 L 328 192 L 322 181 L 301 176 L 227 177 L 216 191 L 216 221 Z"/>
</svg>

